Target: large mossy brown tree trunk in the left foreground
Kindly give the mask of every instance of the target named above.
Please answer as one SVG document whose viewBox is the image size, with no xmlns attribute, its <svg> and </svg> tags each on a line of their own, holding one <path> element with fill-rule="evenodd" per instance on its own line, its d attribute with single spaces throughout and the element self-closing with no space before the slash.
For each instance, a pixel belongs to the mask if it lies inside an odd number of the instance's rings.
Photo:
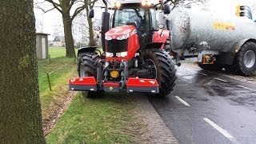
<svg viewBox="0 0 256 144">
<path fill-rule="evenodd" d="M 0 143 L 45 143 L 33 1 L 0 4 Z"/>
</svg>

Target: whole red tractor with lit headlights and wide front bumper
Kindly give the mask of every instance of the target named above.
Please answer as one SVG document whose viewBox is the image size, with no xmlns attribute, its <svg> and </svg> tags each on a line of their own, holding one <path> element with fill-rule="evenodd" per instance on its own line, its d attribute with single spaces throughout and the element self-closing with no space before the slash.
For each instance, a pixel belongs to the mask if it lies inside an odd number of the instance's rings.
<svg viewBox="0 0 256 144">
<path fill-rule="evenodd" d="M 103 2 L 103 54 L 96 47 L 78 50 L 79 78 L 70 78 L 70 90 L 81 90 L 87 98 L 122 91 L 170 94 L 176 80 L 172 57 L 164 50 L 170 32 L 164 29 L 166 23 L 156 21 L 159 7 L 169 14 L 170 6 L 120 1 L 115 3 L 110 22 L 107 2 Z M 90 10 L 93 17 L 94 10 Z"/>
</svg>

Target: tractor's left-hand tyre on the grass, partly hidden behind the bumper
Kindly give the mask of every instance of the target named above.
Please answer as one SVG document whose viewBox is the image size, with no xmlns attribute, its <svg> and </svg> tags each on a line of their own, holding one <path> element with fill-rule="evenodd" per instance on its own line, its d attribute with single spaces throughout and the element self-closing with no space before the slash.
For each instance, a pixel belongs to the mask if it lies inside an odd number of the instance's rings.
<svg viewBox="0 0 256 144">
<path fill-rule="evenodd" d="M 97 54 L 82 53 L 78 54 L 78 75 L 82 77 L 97 78 L 97 63 L 100 60 Z M 82 91 L 82 95 L 86 98 L 98 98 L 103 93 L 100 91 Z"/>
</svg>

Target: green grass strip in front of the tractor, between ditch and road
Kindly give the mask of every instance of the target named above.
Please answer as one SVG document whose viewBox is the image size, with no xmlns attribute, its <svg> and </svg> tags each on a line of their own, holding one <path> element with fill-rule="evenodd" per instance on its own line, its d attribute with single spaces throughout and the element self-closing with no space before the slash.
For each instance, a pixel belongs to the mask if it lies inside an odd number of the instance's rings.
<svg viewBox="0 0 256 144">
<path fill-rule="evenodd" d="M 141 126 L 133 110 L 126 94 L 89 99 L 79 93 L 46 137 L 47 143 L 133 143 L 133 130 Z"/>
</svg>

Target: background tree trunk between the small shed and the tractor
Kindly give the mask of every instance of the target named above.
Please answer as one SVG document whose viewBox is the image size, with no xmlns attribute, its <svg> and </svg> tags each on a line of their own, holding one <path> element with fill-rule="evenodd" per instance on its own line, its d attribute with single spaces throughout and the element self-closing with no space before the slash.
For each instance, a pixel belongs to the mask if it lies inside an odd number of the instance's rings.
<svg viewBox="0 0 256 144">
<path fill-rule="evenodd" d="M 70 14 L 62 14 L 65 42 L 66 42 L 66 57 L 75 58 L 74 39 L 72 34 L 72 20 Z"/>
</svg>

